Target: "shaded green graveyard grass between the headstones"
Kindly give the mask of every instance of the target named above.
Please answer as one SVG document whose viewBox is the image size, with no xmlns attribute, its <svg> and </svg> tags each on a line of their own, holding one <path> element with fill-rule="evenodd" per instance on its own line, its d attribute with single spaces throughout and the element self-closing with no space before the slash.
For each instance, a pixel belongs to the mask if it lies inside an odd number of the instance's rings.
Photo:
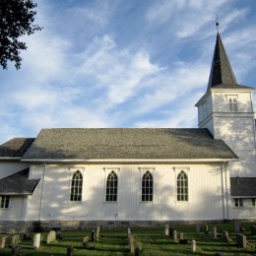
<svg viewBox="0 0 256 256">
<path fill-rule="evenodd" d="M 196 232 L 195 224 L 175 224 L 173 229 L 177 232 L 183 232 L 184 239 L 188 240 L 188 244 L 179 244 L 178 241 L 164 235 L 164 226 L 160 227 L 131 227 L 131 234 L 135 236 L 136 242 L 142 250 L 140 256 L 163 256 L 163 255 L 215 255 L 216 252 L 223 252 L 224 255 L 245 256 L 256 254 L 256 235 L 251 234 L 250 226 L 256 223 L 242 223 L 245 231 L 249 247 L 238 248 L 236 246 L 236 238 L 234 232 L 234 223 L 228 224 L 208 224 L 209 230 L 213 226 L 217 227 L 218 234 L 222 234 L 223 230 L 228 231 L 229 241 L 222 241 L 221 237 L 212 238 L 211 233 Z M 46 232 L 41 233 L 41 244 L 38 249 L 32 248 L 32 240 L 21 239 L 20 245 L 23 255 L 26 256 L 57 256 L 67 255 L 67 246 L 73 245 L 73 255 L 100 255 L 100 256 L 119 256 L 134 255 L 129 252 L 129 243 L 127 239 L 127 228 L 115 228 L 100 230 L 100 239 L 98 242 L 90 242 L 90 246 L 95 246 L 95 250 L 83 248 L 83 237 L 89 236 L 91 240 L 91 230 L 62 231 L 62 240 L 56 240 L 50 244 L 46 244 Z M 0 234 L 0 236 L 6 236 Z M 33 233 L 31 233 L 33 237 Z M 21 234 L 23 238 L 23 235 Z M 8 235 L 7 242 L 11 243 L 12 235 Z M 197 251 L 191 252 L 191 240 L 196 240 Z M 10 255 L 11 249 L 0 249 L 0 255 Z"/>
</svg>

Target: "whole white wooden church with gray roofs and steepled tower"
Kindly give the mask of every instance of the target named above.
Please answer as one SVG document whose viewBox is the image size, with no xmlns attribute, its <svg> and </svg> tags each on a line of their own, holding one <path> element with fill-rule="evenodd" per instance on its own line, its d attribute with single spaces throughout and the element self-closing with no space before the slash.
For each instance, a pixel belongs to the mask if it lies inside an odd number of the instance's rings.
<svg viewBox="0 0 256 256">
<path fill-rule="evenodd" d="M 42 129 L 0 146 L 0 231 L 256 219 L 254 88 L 220 33 L 199 128 Z"/>
</svg>

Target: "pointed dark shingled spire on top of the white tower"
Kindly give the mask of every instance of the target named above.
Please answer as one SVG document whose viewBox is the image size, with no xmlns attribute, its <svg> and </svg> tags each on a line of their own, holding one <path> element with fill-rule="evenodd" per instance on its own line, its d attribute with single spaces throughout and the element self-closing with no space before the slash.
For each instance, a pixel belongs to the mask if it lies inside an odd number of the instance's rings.
<svg viewBox="0 0 256 256">
<path fill-rule="evenodd" d="M 224 49 L 220 32 L 217 33 L 214 57 L 208 83 L 208 91 L 219 85 L 237 85 L 230 62 Z"/>
</svg>

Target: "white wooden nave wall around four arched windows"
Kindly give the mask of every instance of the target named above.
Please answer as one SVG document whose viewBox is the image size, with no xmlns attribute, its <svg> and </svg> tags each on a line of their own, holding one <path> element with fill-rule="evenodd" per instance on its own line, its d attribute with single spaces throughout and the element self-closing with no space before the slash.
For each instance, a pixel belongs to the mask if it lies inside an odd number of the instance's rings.
<svg viewBox="0 0 256 256">
<path fill-rule="evenodd" d="M 141 178 L 144 174 L 140 172 L 142 167 L 155 168 L 153 202 L 141 202 Z M 176 201 L 176 176 L 180 167 L 188 174 L 188 202 Z M 70 202 L 70 182 L 78 169 L 84 178 L 83 199 L 82 202 Z M 118 175 L 118 200 L 105 202 L 105 180 L 112 169 Z M 225 188 L 223 165 L 32 165 L 31 175 L 31 178 L 40 177 L 41 180 L 29 200 L 27 219 L 30 221 L 227 219 L 224 195 L 226 192 L 229 195 L 229 183 Z M 230 215 L 229 196 L 227 201 Z"/>
</svg>

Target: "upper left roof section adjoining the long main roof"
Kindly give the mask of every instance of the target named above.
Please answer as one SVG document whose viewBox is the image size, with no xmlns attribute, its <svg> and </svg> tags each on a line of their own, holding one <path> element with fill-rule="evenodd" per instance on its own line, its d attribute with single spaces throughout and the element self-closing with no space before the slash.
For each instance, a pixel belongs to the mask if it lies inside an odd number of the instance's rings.
<svg viewBox="0 0 256 256">
<path fill-rule="evenodd" d="M 34 138 L 14 138 L 0 146 L 0 158 L 22 158 Z"/>
</svg>

